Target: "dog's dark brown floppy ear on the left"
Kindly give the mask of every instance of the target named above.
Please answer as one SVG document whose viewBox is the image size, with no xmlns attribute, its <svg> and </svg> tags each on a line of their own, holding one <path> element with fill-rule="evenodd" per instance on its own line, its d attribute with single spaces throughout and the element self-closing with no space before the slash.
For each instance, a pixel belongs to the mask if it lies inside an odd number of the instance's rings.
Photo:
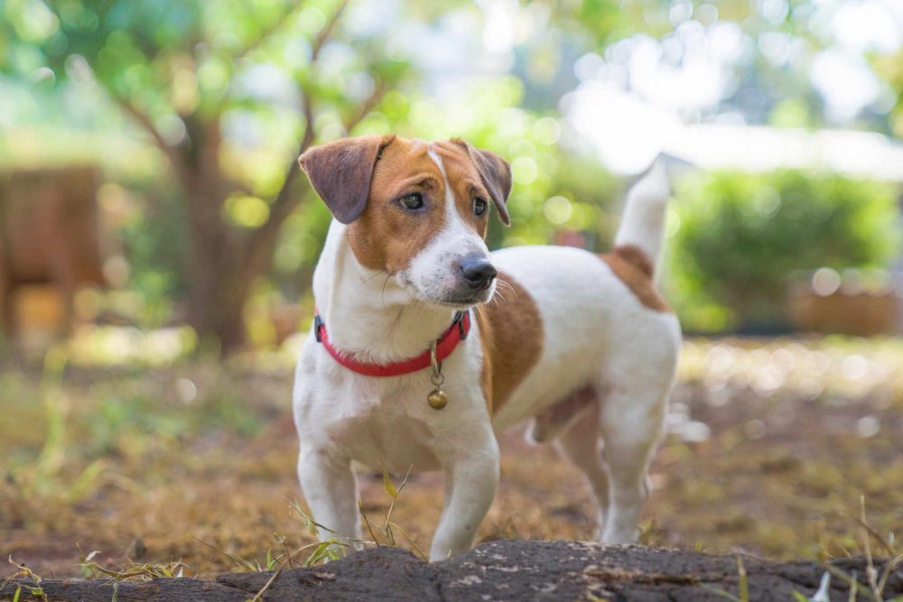
<svg viewBox="0 0 903 602">
<path fill-rule="evenodd" d="M 394 139 L 379 135 L 342 138 L 314 146 L 298 157 L 313 190 L 342 224 L 350 224 L 364 212 L 379 153 Z"/>
</svg>

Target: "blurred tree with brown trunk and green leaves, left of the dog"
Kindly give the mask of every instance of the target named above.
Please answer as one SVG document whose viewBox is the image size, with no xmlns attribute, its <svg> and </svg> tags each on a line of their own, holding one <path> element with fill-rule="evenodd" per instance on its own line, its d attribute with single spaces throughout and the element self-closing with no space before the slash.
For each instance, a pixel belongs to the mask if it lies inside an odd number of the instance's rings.
<svg viewBox="0 0 903 602">
<path fill-rule="evenodd" d="M 189 320 L 228 352 L 309 189 L 297 155 L 347 134 L 413 73 L 346 0 L 7 0 L 0 69 L 99 86 L 168 160 L 191 232 Z M 349 40 L 353 38 L 353 43 Z M 323 68 L 328 63 L 328 69 Z M 300 140 L 300 144 L 298 144 Z"/>
</svg>

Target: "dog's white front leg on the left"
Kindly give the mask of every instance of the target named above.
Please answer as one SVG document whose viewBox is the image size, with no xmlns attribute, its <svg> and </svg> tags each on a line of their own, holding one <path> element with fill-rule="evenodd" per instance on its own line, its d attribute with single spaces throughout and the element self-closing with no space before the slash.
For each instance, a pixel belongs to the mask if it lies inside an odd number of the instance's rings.
<svg viewBox="0 0 903 602">
<path fill-rule="evenodd" d="M 302 445 L 298 457 L 298 479 L 313 514 L 321 542 L 335 537 L 360 548 L 358 479 L 349 458 L 337 458 L 327 449 Z"/>
</svg>

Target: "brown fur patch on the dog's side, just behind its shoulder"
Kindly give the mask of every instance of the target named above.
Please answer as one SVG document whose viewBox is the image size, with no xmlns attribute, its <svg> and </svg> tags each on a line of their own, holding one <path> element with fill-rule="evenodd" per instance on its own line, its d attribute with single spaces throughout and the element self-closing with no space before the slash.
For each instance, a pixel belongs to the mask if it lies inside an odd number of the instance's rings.
<svg viewBox="0 0 903 602">
<path fill-rule="evenodd" d="M 502 285 L 498 301 L 474 311 L 483 347 L 483 394 L 490 415 L 498 412 L 539 361 L 545 337 L 530 293 L 507 273 L 499 272 L 498 280 L 511 288 Z"/>
</svg>

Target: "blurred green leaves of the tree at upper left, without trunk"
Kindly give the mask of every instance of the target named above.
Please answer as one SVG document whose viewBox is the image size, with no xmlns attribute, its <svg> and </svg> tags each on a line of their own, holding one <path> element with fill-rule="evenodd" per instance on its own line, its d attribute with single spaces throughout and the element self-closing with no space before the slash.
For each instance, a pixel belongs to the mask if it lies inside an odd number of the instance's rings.
<svg viewBox="0 0 903 602">
<path fill-rule="evenodd" d="M 342 122 L 368 95 L 412 75 L 404 57 L 386 56 L 380 32 L 331 23 L 346 4 L 11 0 L 0 22 L 0 73 L 74 84 L 79 95 L 100 88 L 157 144 L 189 141 L 189 162 L 223 136 L 219 161 L 243 184 L 236 192 L 272 199 L 306 126 L 291 97 L 313 98 L 322 113 L 318 134 L 330 139 L 344 134 Z M 329 69 L 316 69 L 327 35 Z M 241 139 L 229 135 L 237 125 Z"/>
</svg>

